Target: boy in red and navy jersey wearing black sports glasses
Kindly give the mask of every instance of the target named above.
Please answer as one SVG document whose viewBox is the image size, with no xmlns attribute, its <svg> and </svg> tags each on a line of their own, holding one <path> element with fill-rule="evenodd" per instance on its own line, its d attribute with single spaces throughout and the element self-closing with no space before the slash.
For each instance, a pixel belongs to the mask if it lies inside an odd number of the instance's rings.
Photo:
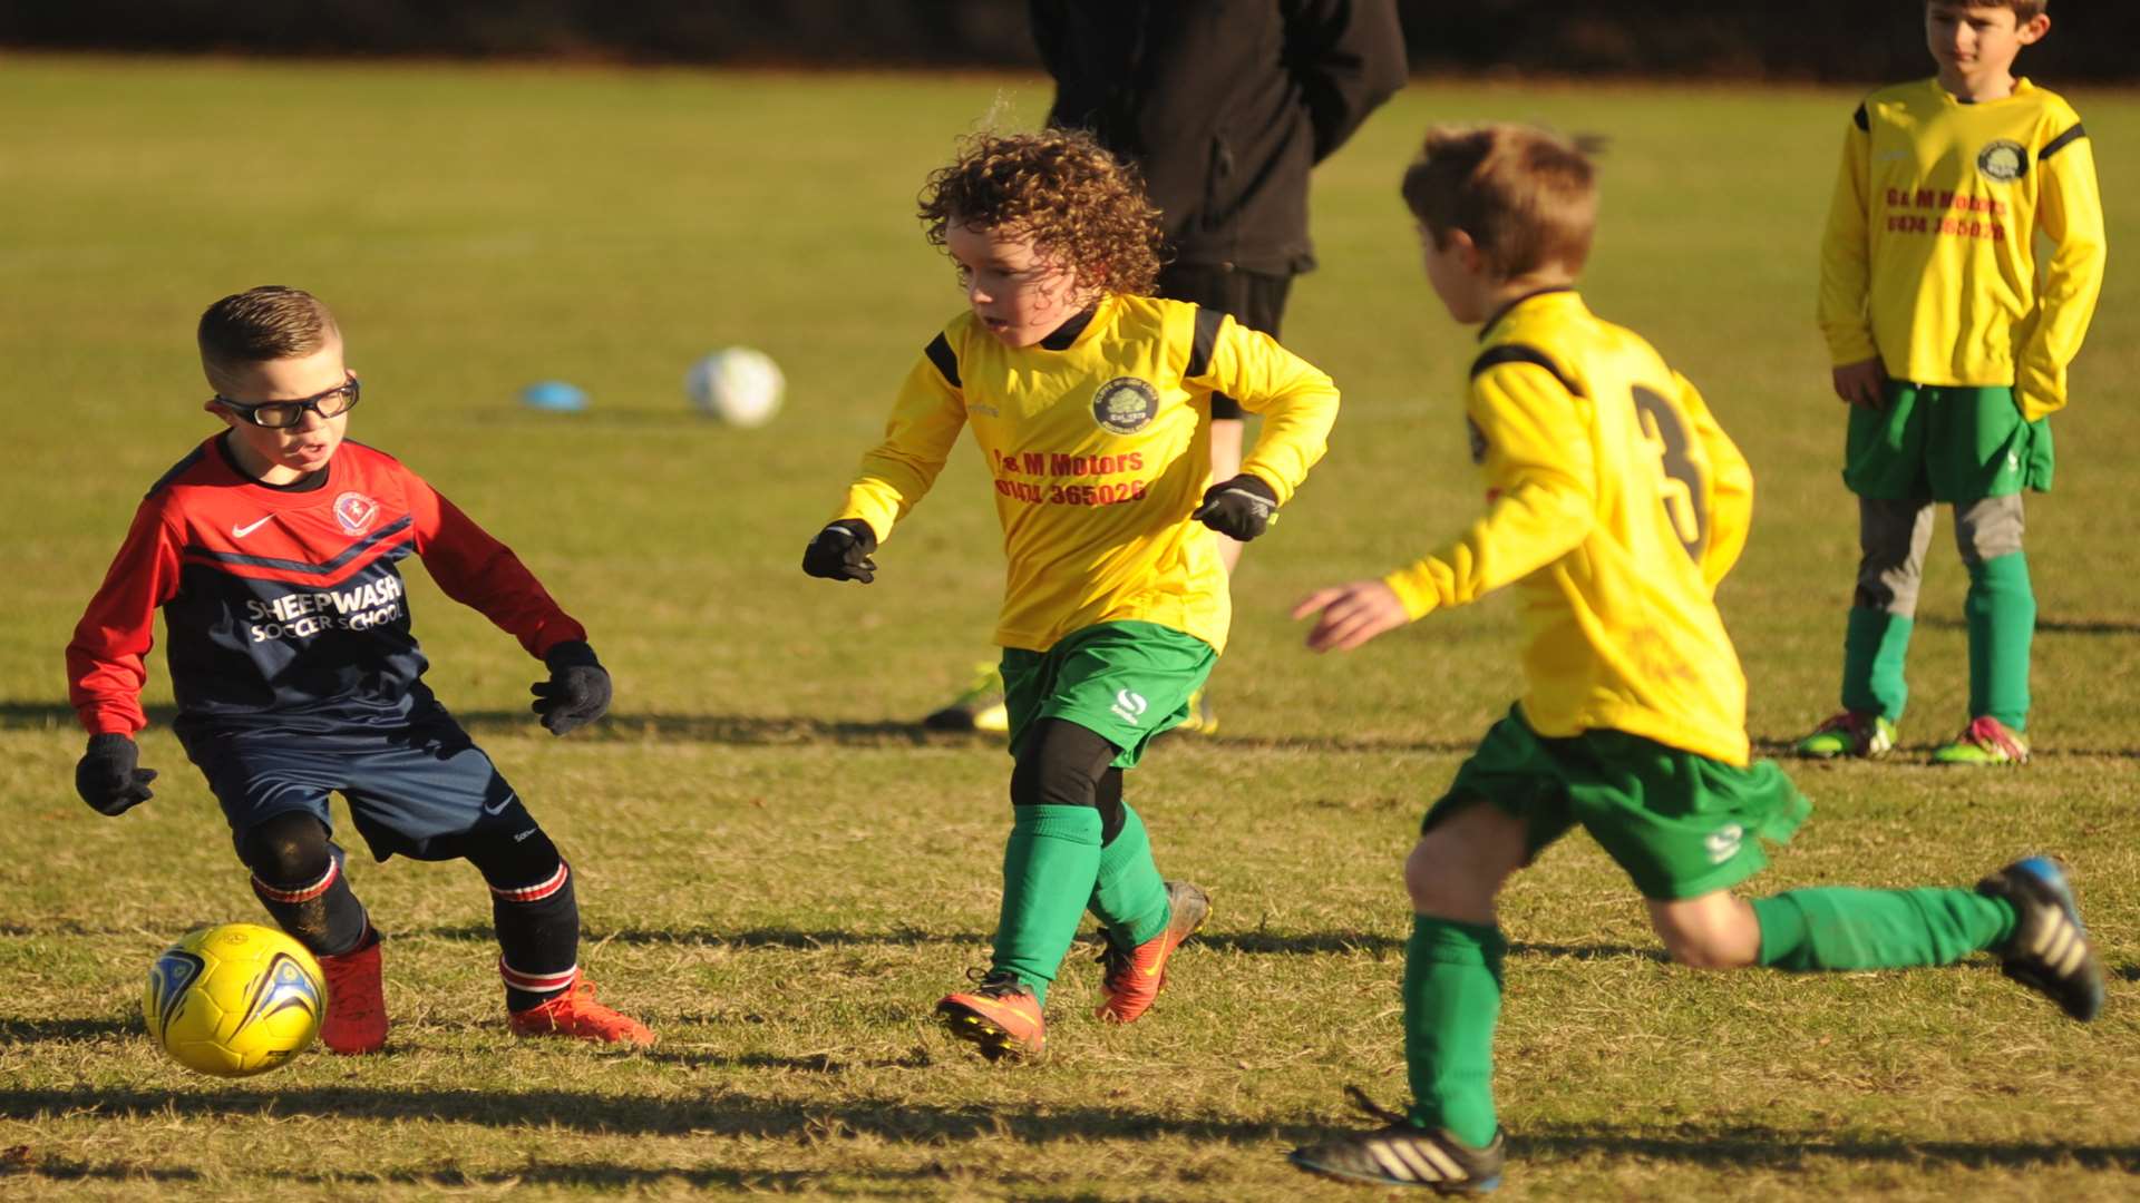
<svg viewBox="0 0 2140 1203">
<path fill-rule="evenodd" d="M 467 858 L 484 873 L 516 1034 L 651 1045 L 580 974 L 571 869 L 424 685 L 398 563 L 424 557 L 449 597 L 548 664 L 533 709 L 554 734 L 610 706 L 586 631 L 400 460 L 345 441 L 360 385 L 317 298 L 223 298 L 199 345 L 208 411 L 227 430 L 150 488 L 66 646 L 90 732 L 75 788 L 105 816 L 150 798 L 156 771 L 139 766 L 133 734 L 148 726 L 139 696 L 160 608 L 171 730 L 223 803 L 268 914 L 327 974 L 327 1049 L 372 1053 L 387 1038 L 379 931 L 330 839 L 330 792 L 377 858 Z"/>
</svg>

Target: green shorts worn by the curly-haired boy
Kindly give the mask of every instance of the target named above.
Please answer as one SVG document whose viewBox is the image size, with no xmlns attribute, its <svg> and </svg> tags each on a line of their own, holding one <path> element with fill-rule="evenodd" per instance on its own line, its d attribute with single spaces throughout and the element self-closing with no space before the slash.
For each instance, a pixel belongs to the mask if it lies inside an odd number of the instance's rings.
<svg viewBox="0 0 2140 1203">
<path fill-rule="evenodd" d="M 1196 636 L 1158 623 L 1096 623 L 1049 651 L 1004 649 L 1004 709 L 1010 753 L 1040 719 L 1068 719 L 1119 751 L 1134 768 L 1151 736 L 1190 715 L 1218 653 Z"/>
</svg>

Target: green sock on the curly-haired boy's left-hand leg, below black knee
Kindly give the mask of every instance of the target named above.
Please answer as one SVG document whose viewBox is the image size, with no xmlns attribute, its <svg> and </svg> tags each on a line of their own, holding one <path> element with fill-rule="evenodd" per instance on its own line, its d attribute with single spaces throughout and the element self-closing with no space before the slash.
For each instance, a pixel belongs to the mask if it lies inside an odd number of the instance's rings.
<svg viewBox="0 0 2140 1203">
<path fill-rule="evenodd" d="M 1012 807 L 1012 813 L 1017 818 L 1004 846 L 1004 910 L 995 920 L 995 970 L 1014 974 L 1034 987 L 1036 1000 L 1046 1002 L 1100 875 L 1100 811 Z M 1166 923 L 1164 914 L 1160 923 Z"/>
</svg>

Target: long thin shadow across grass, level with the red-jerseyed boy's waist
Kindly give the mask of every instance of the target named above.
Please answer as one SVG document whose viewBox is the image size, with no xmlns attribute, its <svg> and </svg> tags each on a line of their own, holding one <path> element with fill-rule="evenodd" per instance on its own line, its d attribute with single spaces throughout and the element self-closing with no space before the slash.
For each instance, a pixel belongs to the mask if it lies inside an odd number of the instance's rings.
<svg viewBox="0 0 2140 1203">
<path fill-rule="evenodd" d="M 150 706 L 152 726 L 169 726 L 178 715 L 171 706 Z M 471 734 L 533 734 L 535 715 L 526 711 L 454 711 Z M 62 702 L 0 702 L 0 730 L 75 730 L 75 711 Z M 982 732 L 927 730 L 918 721 L 835 721 L 811 717 L 764 715 L 631 715 L 612 713 L 603 721 L 574 734 L 578 741 L 612 743 L 719 743 L 730 747 L 991 747 L 1004 741 Z M 1188 738 L 1188 736 L 1181 736 Z M 1479 745 L 1466 738 L 1260 738 L 1260 736 L 1196 736 L 1198 747 L 1226 751 L 1432 751 L 1459 756 Z"/>
</svg>

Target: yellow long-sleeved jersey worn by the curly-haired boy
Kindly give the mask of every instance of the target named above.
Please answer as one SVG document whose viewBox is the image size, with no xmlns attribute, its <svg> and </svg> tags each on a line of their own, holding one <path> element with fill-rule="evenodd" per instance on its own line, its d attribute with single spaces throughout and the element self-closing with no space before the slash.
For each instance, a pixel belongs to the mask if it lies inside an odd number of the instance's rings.
<svg viewBox="0 0 2140 1203">
<path fill-rule="evenodd" d="M 1224 651 L 1226 569 L 1218 537 L 1190 520 L 1211 475 L 1213 390 L 1265 417 L 1241 471 L 1284 505 L 1323 458 L 1338 387 L 1271 336 L 1194 304 L 1109 295 L 1072 338 L 1014 349 L 963 313 L 907 372 L 835 518 L 890 537 L 972 426 L 1004 524 L 997 644 L 1046 651 L 1134 619 Z"/>
</svg>

